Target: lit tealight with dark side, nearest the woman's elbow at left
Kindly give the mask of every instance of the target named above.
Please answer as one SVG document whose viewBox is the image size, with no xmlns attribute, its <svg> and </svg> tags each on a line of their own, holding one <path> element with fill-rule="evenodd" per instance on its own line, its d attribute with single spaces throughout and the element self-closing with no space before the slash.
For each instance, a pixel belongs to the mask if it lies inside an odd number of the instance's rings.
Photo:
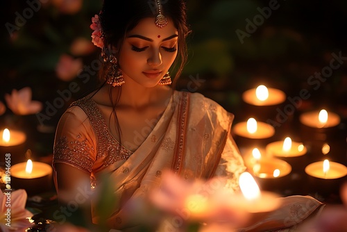
<svg viewBox="0 0 347 232">
<path fill-rule="evenodd" d="M 30 159 L 11 167 L 11 185 L 23 188 L 28 195 L 51 190 L 53 169 L 51 165 L 32 162 Z"/>
</svg>

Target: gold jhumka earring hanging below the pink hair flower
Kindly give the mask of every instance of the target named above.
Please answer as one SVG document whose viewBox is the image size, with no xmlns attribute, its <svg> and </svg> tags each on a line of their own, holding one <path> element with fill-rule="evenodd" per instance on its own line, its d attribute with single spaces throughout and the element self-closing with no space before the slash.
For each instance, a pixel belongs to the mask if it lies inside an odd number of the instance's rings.
<svg viewBox="0 0 347 232">
<path fill-rule="evenodd" d="M 104 49 L 101 56 L 103 56 L 104 62 L 109 62 L 106 74 L 106 83 L 113 87 L 121 86 L 126 83 L 123 74 L 121 73 L 121 69 L 118 67 L 116 56 L 111 54 L 107 48 Z"/>
</svg>

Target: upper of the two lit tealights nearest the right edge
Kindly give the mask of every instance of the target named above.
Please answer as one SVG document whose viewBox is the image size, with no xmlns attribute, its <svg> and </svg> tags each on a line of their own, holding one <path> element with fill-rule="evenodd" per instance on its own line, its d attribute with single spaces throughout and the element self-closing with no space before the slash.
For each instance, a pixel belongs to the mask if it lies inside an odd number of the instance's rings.
<svg viewBox="0 0 347 232">
<path fill-rule="evenodd" d="M 300 116 L 300 122 L 305 126 L 313 128 L 328 128 L 337 126 L 340 123 L 340 117 L 336 113 L 327 110 L 312 111 L 303 113 Z"/>
</svg>

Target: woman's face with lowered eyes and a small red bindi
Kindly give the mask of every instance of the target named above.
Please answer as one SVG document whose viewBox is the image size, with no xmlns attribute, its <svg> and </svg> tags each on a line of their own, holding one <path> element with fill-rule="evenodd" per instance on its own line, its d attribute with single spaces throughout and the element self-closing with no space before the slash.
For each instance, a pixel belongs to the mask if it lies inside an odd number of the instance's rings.
<svg viewBox="0 0 347 232">
<path fill-rule="evenodd" d="M 177 56 L 178 31 L 168 19 L 167 26 L 155 26 L 153 18 L 142 19 L 126 33 L 119 53 L 119 67 L 125 79 L 146 88 L 154 87 Z"/>
</svg>

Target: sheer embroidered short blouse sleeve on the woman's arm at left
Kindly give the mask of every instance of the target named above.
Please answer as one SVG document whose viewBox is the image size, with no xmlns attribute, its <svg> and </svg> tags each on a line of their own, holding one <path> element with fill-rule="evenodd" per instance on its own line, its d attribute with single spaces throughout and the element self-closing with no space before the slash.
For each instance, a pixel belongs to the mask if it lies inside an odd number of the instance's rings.
<svg viewBox="0 0 347 232">
<path fill-rule="evenodd" d="M 85 112 L 71 106 L 60 118 L 53 148 L 53 167 L 65 163 L 91 173 L 96 160 L 96 139 Z"/>
</svg>

